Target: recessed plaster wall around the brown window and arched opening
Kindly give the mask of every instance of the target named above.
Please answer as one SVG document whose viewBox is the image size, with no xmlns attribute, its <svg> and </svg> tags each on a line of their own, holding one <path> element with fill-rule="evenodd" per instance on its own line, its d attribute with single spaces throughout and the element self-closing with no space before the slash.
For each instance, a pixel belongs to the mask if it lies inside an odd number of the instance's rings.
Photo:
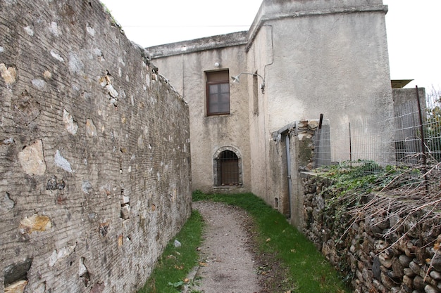
<svg viewBox="0 0 441 293">
<path fill-rule="evenodd" d="M 206 38 L 197 41 L 182 41 L 173 46 L 148 48 L 160 74 L 176 84 L 190 107 L 190 133 L 192 145 L 192 189 L 205 193 L 240 193 L 251 190 L 249 122 L 247 100 L 247 77 L 240 83 L 230 83 L 230 114 L 206 115 L 205 72 L 228 69 L 230 76 L 246 71 L 247 56 L 244 52 L 244 34 L 228 34 L 219 39 Z M 238 38 L 239 40 L 237 40 Z M 203 44 L 203 51 L 192 51 L 194 42 Z M 232 46 L 228 46 L 232 44 Z M 171 48 L 170 48 L 171 47 Z M 173 48 L 181 51 L 177 55 Z M 216 67 L 215 63 L 219 66 Z M 213 178 L 213 157 L 221 148 L 238 150 L 242 162 L 242 186 L 216 187 Z"/>
</svg>

